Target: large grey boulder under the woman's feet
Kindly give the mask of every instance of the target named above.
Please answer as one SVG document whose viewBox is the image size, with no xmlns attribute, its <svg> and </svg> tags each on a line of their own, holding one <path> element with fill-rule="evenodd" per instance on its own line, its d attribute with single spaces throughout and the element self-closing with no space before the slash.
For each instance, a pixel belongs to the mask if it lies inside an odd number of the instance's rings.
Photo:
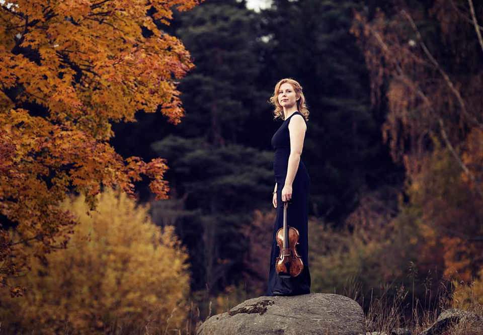
<svg viewBox="0 0 483 335">
<path fill-rule="evenodd" d="M 198 335 L 360 333 L 365 333 L 361 306 L 346 296 L 324 293 L 249 299 L 211 316 L 197 331 Z"/>
</svg>

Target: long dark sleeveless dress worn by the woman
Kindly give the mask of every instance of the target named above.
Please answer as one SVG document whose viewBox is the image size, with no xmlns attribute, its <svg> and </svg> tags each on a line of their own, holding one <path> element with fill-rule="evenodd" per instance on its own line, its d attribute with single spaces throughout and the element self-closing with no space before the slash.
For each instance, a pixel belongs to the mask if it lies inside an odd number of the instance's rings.
<svg viewBox="0 0 483 335">
<path fill-rule="evenodd" d="M 282 189 L 287 176 L 288 157 L 290 155 L 290 134 L 288 124 L 295 112 L 283 121 L 280 128 L 272 137 L 272 146 L 275 149 L 273 171 L 277 183 L 277 217 L 273 226 L 272 252 L 270 256 L 270 270 L 266 295 L 299 295 L 310 293 L 310 271 L 308 268 L 308 221 L 307 196 L 310 186 L 310 177 L 305 164 L 300 159 L 295 178 L 292 183 L 292 199 L 287 207 L 287 224 L 297 228 L 300 236 L 297 252 L 303 262 L 303 270 L 297 277 L 281 278 L 275 270 L 275 259 L 280 255 L 280 248 L 275 240 L 277 230 L 283 227 Z M 303 116 L 302 116 L 303 117 Z M 305 120 L 305 119 L 304 119 Z"/>
</svg>

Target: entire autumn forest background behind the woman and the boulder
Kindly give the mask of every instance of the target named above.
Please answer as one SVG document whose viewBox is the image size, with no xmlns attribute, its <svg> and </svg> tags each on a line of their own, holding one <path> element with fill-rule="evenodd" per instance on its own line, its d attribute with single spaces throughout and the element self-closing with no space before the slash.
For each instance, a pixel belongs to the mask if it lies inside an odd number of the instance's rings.
<svg viewBox="0 0 483 335">
<path fill-rule="evenodd" d="M 54 3 L 0 5 L 3 327 L 189 332 L 263 295 L 283 77 L 312 291 L 483 302 L 483 4 Z"/>
</svg>

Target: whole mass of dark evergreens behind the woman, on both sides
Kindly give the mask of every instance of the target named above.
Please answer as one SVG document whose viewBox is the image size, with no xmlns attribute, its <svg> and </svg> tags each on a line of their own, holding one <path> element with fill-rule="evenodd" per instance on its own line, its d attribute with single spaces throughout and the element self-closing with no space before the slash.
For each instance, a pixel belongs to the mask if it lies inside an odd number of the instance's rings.
<svg viewBox="0 0 483 335">
<path fill-rule="evenodd" d="M 179 86 L 186 116 L 174 126 L 160 113 L 142 114 L 119 125 L 114 145 L 168 159 L 171 199 L 153 203 L 155 220 L 175 224 L 188 246 L 194 291 L 216 294 L 239 282 L 248 248 L 240 227 L 254 209 L 273 209 L 270 140 L 280 121 L 267 101 L 278 79 L 299 80 L 308 99 L 312 214 L 343 220 L 365 185 L 381 183 L 390 159 L 349 33 L 354 4 L 280 0 L 257 14 L 243 2 L 208 0 L 165 27 L 196 64 Z"/>
</svg>

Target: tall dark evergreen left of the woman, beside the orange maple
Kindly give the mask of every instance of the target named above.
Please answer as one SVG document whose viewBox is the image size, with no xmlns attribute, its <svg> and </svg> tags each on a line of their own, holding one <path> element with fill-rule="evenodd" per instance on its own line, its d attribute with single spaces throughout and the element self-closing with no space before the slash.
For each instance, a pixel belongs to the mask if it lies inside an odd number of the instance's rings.
<svg viewBox="0 0 483 335">
<path fill-rule="evenodd" d="M 277 123 L 270 93 L 257 87 L 259 14 L 207 1 L 175 22 L 196 68 L 180 84 L 186 117 L 152 148 L 168 159 L 172 197 L 184 199 L 176 225 L 190 250 L 192 289 L 215 294 L 240 282 L 248 248 L 240 228 L 254 209 L 270 209 L 273 152 L 261 148 Z"/>
</svg>

